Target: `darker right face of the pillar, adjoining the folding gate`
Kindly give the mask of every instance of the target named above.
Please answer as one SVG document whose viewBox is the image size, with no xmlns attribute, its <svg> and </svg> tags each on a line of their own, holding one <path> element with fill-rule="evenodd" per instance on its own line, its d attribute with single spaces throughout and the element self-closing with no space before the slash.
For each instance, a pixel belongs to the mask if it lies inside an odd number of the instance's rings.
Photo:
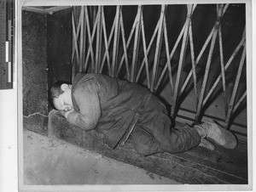
<svg viewBox="0 0 256 192">
<path fill-rule="evenodd" d="M 47 63 L 49 87 L 58 81 L 71 82 L 71 8 L 47 16 Z"/>
</svg>

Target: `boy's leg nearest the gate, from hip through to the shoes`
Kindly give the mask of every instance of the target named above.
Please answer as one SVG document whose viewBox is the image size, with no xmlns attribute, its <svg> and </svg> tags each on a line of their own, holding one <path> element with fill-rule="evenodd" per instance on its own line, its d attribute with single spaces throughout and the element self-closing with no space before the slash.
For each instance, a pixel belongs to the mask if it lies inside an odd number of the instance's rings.
<svg viewBox="0 0 256 192">
<path fill-rule="evenodd" d="M 172 122 L 167 115 L 166 106 L 154 95 L 137 125 L 145 127 L 160 145 L 160 149 L 169 153 L 183 152 L 198 145 L 214 150 L 214 145 L 204 138 L 210 138 L 228 149 L 234 149 L 237 144 L 236 137 L 216 123 L 205 122 L 195 127 L 171 128 Z"/>
</svg>

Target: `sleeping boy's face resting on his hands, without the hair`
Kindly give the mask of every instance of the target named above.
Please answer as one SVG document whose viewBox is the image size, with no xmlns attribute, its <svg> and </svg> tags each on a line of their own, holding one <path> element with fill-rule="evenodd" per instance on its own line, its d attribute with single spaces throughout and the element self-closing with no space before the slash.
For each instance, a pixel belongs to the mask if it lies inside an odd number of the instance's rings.
<svg viewBox="0 0 256 192">
<path fill-rule="evenodd" d="M 73 103 L 71 98 L 72 85 L 62 84 L 61 90 L 64 92 L 54 99 L 56 110 L 73 110 Z"/>
</svg>

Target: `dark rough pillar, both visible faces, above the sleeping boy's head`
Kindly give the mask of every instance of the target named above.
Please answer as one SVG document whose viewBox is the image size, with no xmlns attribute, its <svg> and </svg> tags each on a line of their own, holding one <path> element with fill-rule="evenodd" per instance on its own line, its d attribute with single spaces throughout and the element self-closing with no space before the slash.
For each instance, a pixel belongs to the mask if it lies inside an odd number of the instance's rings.
<svg viewBox="0 0 256 192">
<path fill-rule="evenodd" d="M 71 9 L 54 14 L 22 12 L 23 115 L 48 114 L 48 90 L 71 81 Z"/>
</svg>

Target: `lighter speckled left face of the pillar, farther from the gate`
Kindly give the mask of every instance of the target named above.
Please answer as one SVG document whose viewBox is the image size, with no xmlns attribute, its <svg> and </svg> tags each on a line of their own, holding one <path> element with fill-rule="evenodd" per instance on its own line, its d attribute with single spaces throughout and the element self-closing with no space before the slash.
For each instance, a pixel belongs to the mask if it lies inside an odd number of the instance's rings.
<svg viewBox="0 0 256 192">
<path fill-rule="evenodd" d="M 23 114 L 47 114 L 46 15 L 22 12 Z"/>
</svg>

